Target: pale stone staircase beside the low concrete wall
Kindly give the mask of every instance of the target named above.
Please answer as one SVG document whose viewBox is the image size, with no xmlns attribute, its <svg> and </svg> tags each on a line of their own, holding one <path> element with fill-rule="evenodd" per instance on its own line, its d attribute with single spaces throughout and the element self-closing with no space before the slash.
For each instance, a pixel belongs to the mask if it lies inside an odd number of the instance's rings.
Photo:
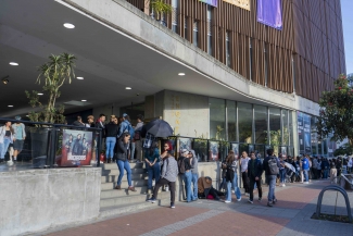
<svg viewBox="0 0 353 236">
<path fill-rule="evenodd" d="M 169 191 L 159 192 L 159 200 L 156 203 L 150 203 L 146 200 L 151 197 L 147 194 L 148 174 L 143 169 L 142 163 L 130 163 L 131 181 L 136 191 L 128 191 L 128 183 L 126 173 L 122 181 L 122 189 L 114 189 L 118 169 L 116 163 L 102 164 L 101 176 L 101 198 L 100 198 L 100 218 L 123 214 L 141 209 L 155 208 L 161 203 L 168 203 L 171 198 Z"/>
</svg>

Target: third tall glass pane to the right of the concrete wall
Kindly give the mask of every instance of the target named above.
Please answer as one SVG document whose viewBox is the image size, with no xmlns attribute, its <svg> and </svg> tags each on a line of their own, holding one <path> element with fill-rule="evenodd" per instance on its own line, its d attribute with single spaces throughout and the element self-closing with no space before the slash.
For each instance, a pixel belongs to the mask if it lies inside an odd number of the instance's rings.
<svg viewBox="0 0 353 236">
<path fill-rule="evenodd" d="M 239 142 L 252 144 L 252 104 L 238 102 Z"/>
</svg>

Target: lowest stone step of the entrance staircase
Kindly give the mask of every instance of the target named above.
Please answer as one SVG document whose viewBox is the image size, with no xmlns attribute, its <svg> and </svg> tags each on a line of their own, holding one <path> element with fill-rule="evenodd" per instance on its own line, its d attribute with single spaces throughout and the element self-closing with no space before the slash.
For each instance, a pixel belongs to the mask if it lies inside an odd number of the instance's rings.
<svg viewBox="0 0 353 236">
<path fill-rule="evenodd" d="M 104 207 L 100 209 L 99 218 L 103 219 L 103 218 L 110 218 L 110 216 L 125 214 L 125 213 L 133 213 L 141 210 L 153 209 L 161 204 L 169 204 L 169 203 L 171 200 L 168 198 L 168 199 L 157 200 L 155 203 L 144 201 L 141 203 L 122 204 L 118 207 Z"/>
</svg>

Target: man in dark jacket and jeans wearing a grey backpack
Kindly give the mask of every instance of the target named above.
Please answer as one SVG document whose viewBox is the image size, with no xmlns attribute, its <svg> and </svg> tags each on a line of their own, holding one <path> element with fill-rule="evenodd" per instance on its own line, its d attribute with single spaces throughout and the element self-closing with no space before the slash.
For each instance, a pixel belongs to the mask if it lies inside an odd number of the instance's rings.
<svg viewBox="0 0 353 236">
<path fill-rule="evenodd" d="M 277 198 L 275 196 L 275 189 L 276 189 L 276 178 L 277 178 L 277 174 L 274 174 L 270 172 L 269 170 L 269 166 L 268 166 L 268 161 L 272 160 L 272 161 L 276 161 L 277 163 L 277 167 L 279 170 L 280 167 L 280 164 L 279 164 L 279 161 L 276 157 L 274 157 L 274 149 L 267 149 L 267 157 L 264 159 L 264 162 L 263 162 L 263 170 L 265 171 L 265 175 L 266 175 L 266 178 L 267 178 L 267 182 L 268 182 L 268 202 L 267 202 L 267 206 L 268 207 L 274 207 L 274 203 L 277 202 Z M 277 170 L 277 171 L 278 171 Z"/>
</svg>

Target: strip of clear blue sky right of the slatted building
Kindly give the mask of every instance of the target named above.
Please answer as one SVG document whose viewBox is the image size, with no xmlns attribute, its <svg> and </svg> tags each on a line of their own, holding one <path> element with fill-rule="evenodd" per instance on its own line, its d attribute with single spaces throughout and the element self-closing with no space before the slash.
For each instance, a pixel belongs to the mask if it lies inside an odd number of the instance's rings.
<svg viewBox="0 0 353 236">
<path fill-rule="evenodd" d="M 353 0 L 341 0 L 346 74 L 353 73 Z"/>
</svg>

